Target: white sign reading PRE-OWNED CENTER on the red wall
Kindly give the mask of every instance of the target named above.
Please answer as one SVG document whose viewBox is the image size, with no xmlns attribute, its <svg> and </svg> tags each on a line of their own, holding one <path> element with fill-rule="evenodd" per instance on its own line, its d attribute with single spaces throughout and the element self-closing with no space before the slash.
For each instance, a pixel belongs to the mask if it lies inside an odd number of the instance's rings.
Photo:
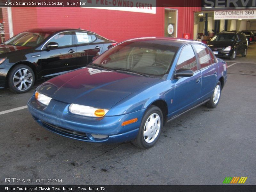
<svg viewBox="0 0 256 192">
<path fill-rule="evenodd" d="M 90 0 L 90 2 L 81 7 L 156 14 L 156 0 Z"/>
</svg>

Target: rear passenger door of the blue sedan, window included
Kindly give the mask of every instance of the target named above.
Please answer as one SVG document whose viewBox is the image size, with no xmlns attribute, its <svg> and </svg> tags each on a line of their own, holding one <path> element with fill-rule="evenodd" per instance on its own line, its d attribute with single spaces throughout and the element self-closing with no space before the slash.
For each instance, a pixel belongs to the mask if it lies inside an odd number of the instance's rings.
<svg viewBox="0 0 256 192">
<path fill-rule="evenodd" d="M 201 98 L 211 96 L 217 82 L 217 64 L 212 51 L 205 45 L 193 44 L 202 74 Z"/>
</svg>

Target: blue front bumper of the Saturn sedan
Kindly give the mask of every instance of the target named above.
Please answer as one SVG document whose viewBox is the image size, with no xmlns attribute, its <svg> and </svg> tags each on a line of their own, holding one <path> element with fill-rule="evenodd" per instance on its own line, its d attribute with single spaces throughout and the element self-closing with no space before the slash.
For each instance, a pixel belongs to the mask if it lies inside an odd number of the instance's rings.
<svg viewBox="0 0 256 192">
<path fill-rule="evenodd" d="M 68 111 L 69 104 L 51 100 L 46 107 L 34 96 L 28 101 L 28 110 L 38 124 L 59 135 L 83 140 L 86 142 L 116 143 L 130 141 L 136 138 L 140 122 L 146 109 L 119 116 L 102 118 L 85 117 Z M 122 122 L 138 118 L 138 121 L 122 126 Z M 107 138 L 97 139 L 92 136 L 107 135 Z"/>
</svg>

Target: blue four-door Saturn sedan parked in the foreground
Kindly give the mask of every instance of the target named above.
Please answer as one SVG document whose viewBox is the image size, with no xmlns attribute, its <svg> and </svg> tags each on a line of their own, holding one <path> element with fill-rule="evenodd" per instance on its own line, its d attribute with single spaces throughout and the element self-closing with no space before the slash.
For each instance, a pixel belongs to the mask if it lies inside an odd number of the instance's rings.
<svg viewBox="0 0 256 192">
<path fill-rule="evenodd" d="M 69 138 L 149 148 L 168 120 L 218 105 L 226 68 L 196 41 L 132 39 L 40 85 L 28 109 L 44 128 Z"/>
</svg>

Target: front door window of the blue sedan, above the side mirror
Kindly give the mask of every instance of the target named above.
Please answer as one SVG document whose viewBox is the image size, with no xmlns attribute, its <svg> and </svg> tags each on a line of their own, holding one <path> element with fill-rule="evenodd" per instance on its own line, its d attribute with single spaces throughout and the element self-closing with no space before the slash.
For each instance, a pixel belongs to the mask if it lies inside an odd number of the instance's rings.
<svg viewBox="0 0 256 192">
<path fill-rule="evenodd" d="M 190 69 L 192 71 L 197 70 L 196 56 L 191 45 L 184 47 L 180 53 L 176 69 L 179 70 L 181 68 Z"/>
</svg>

